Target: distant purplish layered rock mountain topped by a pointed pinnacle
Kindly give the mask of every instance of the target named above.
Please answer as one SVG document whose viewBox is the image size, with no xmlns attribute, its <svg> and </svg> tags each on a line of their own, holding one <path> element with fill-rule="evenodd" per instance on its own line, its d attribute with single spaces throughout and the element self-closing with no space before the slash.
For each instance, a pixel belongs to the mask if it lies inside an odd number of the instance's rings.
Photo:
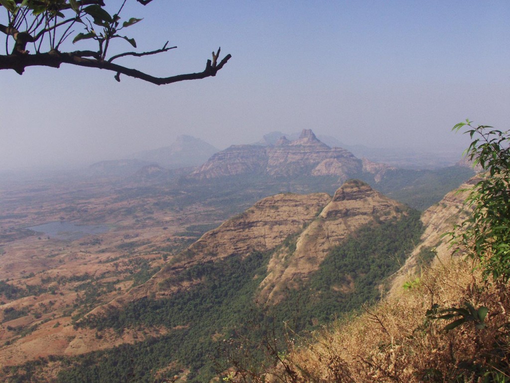
<svg viewBox="0 0 510 383">
<path fill-rule="evenodd" d="M 216 153 L 192 173 L 193 178 L 264 174 L 272 177 L 336 176 L 341 181 L 360 174 L 380 173 L 385 165 L 365 166 L 341 148 L 330 148 L 310 129 L 298 139 L 279 138 L 274 145 L 237 145 Z M 375 174 L 374 173 L 374 174 Z"/>
</svg>

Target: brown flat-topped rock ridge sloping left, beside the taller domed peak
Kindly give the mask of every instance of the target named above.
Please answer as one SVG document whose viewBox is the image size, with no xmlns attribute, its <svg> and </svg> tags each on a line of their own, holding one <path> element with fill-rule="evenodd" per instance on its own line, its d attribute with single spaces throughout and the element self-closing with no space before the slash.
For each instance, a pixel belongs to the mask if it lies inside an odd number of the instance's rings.
<svg viewBox="0 0 510 383">
<path fill-rule="evenodd" d="M 193 265 L 210 260 L 217 261 L 231 255 L 245 257 L 254 251 L 273 249 L 289 235 L 300 232 L 303 225 L 312 222 L 330 199 L 325 193 L 287 193 L 264 198 L 237 217 L 205 233 L 170 265 L 145 284 L 132 289 L 122 301 L 140 299 L 151 293 L 161 298 L 187 288 L 188 286 L 172 285 L 170 281 L 172 277 Z"/>
</svg>

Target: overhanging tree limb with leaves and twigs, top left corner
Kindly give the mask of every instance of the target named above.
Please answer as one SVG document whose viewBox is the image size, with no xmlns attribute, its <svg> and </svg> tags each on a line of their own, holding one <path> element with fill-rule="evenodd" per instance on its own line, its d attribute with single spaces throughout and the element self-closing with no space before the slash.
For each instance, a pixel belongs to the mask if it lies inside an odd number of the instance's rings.
<svg viewBox="0 0 510 383">
<path fill-rule="evenodd" d="M 152 0 L 136 1 L 146 5 Z M 126 56 L 149 56 L 176 48 L 168 46 L 167 41 L 160 49 L 108 56 L 109 47 L 114 40 L 125 40 L 134 48 L 137 47 L 135 39 L 124 35 L 124 30 L 141 19 L 131 17 L 122 21 L 120 13 L 126 2 L 127 0 L 118 2 L 119 8 L 114 14 L 110 14 L 103 0 L 0 0 L 0 11 L 4 12 L 0 15 L 0 32 L 5 37 L 3 45 L 6 53 L 0 55 L 0 69 L 13 69 L 21 75 L 29 66 L 58 68 L 66 63 L 110 70 L 115 73 L 117 81 L 120 81 L 120 75 L 126 75 L 163 85 L 216 76 L 217 71 L 231 58 L 231 55 L 226 55 L 218 62 L 218 49 L 213 52 L 212 59 L 207 60 L 203 71 L 163 78 L 114 63 L 114 60 Z M 5 24 L 2 23 L 5 21 Z M 81 29 L 81 32 L 75 33 L 75 28 Z M 95 40 L 97 50 L 61 52 L 62 44 L 71 36 L 73 43 Z"/>
</svg>

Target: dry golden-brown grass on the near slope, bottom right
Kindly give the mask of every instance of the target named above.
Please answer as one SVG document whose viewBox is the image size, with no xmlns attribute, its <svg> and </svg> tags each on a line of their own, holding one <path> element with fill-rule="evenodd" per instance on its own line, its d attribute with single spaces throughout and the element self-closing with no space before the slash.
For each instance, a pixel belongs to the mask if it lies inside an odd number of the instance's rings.
<svg viewBox="0 0 510 383">
<path fill-rule="evenodd" d="M 467 322 L 447 332 L 451 320 L 427 320 L 432 304 L 486 306 L 487 327 Z M 295 382 L 419 382 L 478 380 L 484 371 L 510 371 L 508 286 L 487 285 L 468 261 L 453 258 L 423 273 L 398 298 L 366 308 L 364 315 L 312 334 L 293 347 L 287 363 Z M 491 367 L 492 366 L 492 367 Z M 292 375 L 292 374 L 291 374 Z M 457 379 L 458 380 L 455 380 Z"/>
</svg>

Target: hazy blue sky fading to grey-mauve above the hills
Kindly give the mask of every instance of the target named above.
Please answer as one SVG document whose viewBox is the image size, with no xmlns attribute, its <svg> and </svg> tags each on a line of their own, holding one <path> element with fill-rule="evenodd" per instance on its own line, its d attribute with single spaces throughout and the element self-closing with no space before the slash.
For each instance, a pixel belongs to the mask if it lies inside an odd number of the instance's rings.
<svg viewBox="0 0 510 383">
<path fill-rule="evenodd" d="M 220 45 L 232 59 L 215 78 L 165 86 L 70 65 L 2 70 L 0 170 L 117 159 L 180 134 L 225 148 L 311 128 L 347 144 L 458 148 L 450 129 L 465 118 L 508 129 L 508 1 L 129 1 L 123 15 L 144 17 L 127 30 L 139 51 L 178 49 L 127 66 L 201 71 Z"/>
</svg>

